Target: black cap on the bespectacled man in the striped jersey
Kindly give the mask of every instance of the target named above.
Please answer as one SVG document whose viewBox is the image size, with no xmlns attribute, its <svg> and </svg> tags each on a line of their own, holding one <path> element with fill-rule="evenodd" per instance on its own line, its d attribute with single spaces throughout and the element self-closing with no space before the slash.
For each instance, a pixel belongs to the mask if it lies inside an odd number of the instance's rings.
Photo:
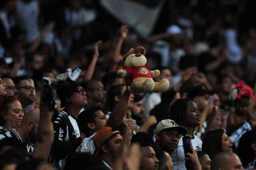
<svg viewBox="0 0 256 170">
<path fill-rule="evenodd" d="M 57 88 L 57 94 L 61 100 L 61 107 L 65 106 L 65 98 L 69 97 L 72 93 L 76 92 L 77 87 L 80 85 L 80 83 L 70 82 L 63 84 Z"/>
</svg>

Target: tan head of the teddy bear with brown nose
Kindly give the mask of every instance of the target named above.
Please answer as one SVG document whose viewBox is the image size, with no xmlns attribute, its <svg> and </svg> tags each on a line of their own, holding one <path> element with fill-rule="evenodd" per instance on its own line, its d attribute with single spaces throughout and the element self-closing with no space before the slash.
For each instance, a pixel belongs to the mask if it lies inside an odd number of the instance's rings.
<svg viewBox="0 0 256 170">
<path fill-rule="evenodd" d="M 146 50 L 142 46 L 138 46 L 135 49 L 131 48 L 124 55 L 124 65 L 126 67 L 141 67 L 146 65 L 147 59 L 145 57 Z"/>
</svg>

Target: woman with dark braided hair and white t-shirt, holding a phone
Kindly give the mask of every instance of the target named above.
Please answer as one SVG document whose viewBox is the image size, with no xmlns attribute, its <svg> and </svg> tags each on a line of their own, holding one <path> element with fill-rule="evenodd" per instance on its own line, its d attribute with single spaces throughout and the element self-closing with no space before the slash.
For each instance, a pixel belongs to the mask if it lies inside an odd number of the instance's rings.
<svg viewBox="0 0 256 170">
<path fill-rule="evenodd" d="M 179 126 L 186 127 L 188 130 L 186 136 L 191 138 L 193 148 L 196 151 L 202 150 L 202 140 L 195 135 L 199 130 L 201 117 L 197 103 L 187 98 L 179 99 L 171 106 L 168 116 Z M 186 170 L 182 137 L 179 140 L 177 150 L 171 153 L 171 157 L 174 170 Z"/>
</svg>

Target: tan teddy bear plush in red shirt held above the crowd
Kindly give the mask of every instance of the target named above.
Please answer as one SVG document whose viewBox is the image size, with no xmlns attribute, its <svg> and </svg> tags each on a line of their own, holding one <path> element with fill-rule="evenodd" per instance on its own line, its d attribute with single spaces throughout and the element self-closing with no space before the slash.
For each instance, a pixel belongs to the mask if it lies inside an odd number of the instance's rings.
<svg viewBox="0 0 256 170">
<path fill-rule="evenodd" d="M 145 66 L 147 58 L 146 50 L 142 46 L 131 48 L 124 56 L 123 69 L 117 71 L 117 76 L 132 79 L 132 84 L 128 87 L 130 92 L 164 92 L 169 87 L 169 81 L 165 78 L 160 82 L 154 82 L 153 78 L 160 76 L 159 70 L 150 71 Z"/>
</svg>

